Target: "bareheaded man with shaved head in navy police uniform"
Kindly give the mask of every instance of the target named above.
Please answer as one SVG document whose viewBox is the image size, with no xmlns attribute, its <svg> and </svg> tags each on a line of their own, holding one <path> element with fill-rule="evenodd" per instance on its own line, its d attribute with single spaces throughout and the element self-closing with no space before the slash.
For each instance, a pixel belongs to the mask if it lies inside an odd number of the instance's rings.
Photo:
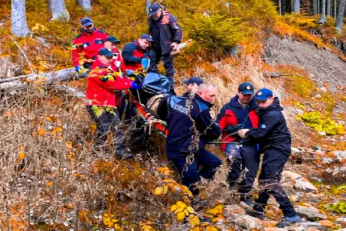
<svg viewBox="0 0 346 231">
<path fill-rule="evenodd" d="M 167 97 L 165 102 L 169 110 L 167 118 L 169 135 L 166 140 L 168 159 L 180 173 L 182 184 L 189 187 L 195 196 L 199 194 L 199 191 L 194 184 L 199 182 L 201 177 L 212 179 L 217 167 L 221 165 L 221 160 L 206 150 L 207 141 L 217 139 L 221 135 L 220 127 L 210 115 L 215 99 L 216 87 L 205 83 L 198 87 L 198 92 L 192 99 L 190 115 L 200 133 L 198 147 L 193 150 L 189 149 L 194 132 L 191 130 L 192 121 L 187 115 L 188 98 L 172 95 Z M 160 104 L 163 104 L 163 101 Z M 186 157 L 191 153 L 190 151 L 194 154 L 192 164 L 186 163 Z M 202 169 L 199 171 L 200 167 Z"/>
</svg>

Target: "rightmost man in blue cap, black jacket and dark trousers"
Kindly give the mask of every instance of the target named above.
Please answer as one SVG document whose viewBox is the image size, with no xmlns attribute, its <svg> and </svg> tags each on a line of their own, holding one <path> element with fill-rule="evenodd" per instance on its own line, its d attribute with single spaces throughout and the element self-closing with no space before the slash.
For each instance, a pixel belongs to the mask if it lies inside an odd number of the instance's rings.
<svg viewBox="0 0 346 231">
<path fill-rule="evenodd" d="M 262 88 L 256 92 L 255 99 L 260 108 L 259 128 L 242 129 L 238 135 L 259 142 L 260 150 L 264 152 L 259 183 L 264 187 L 271 186 L 260 191 L 253 210 L 247 210 L 247 213 L 263 218 L 268 199 L 273 195 L 284 214 L 283 221 L 276 226 L 283 228 L 301 220 L 286 192 L 279 185 L 283 168 L 291 155 L 291 134 L 282 114 L 283 108 L 280 106 L 279 98 L 273 97 L 272 91 Z"/>
</svg>

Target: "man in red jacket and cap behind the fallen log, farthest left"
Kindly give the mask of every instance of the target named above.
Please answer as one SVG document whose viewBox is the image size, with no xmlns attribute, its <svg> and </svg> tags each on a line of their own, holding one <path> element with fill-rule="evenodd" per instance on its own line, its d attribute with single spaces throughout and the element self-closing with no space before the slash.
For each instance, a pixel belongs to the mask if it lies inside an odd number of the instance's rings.
<svg viewBox="0 0 346 231">
<path fill-rule="evenodd" d="M 80 61 L 84 68 L 90 69 L 97 51 L 104 46 L 103 42 L 108 37 L 104 31 L 94 27 L 90 18 L 83 18 L 81 24 L 81 34 L 73 41 L 72 49 L 72 61 L 77 72 L 80 70 Z M 83 60 L 81 60 L 81 54 L 84 56 Z"/>
</svg>

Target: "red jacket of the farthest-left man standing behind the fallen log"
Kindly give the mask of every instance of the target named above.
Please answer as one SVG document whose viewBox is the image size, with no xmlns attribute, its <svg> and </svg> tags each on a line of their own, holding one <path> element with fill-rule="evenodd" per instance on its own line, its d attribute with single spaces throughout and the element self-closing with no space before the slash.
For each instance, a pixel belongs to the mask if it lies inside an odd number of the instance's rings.
<svg viewBox="0 0 346 231">
<path fill-rule="evenodd" d="M 102 30 L 94 31 L 91 34 L 87 34 L 81 29 L 81 34 L 73 41 L 72 49 L 72 62 L 74 66 L 80 65 L 81 54 L 84 55 L 83 62 L 92 63 L 93 59 L 97 55 L 97 51 L 103 48 L 104 40 L 108 37 L 107 33 Z"/>
</svg>

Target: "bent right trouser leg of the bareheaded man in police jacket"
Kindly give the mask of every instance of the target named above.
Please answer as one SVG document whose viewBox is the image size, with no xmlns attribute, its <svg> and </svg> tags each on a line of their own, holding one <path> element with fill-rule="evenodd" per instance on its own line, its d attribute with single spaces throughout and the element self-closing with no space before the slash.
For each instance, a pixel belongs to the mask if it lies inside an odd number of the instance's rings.
<svg viewBox="0 0 346 231">
<path fill-rule="evenodd" d="M 202 166 L 199 176 L 205 179 L 213 179 L 217 168 L 221 165 L 221 160 L 215 154 L 203 149 L 197 157 L 197 165 Z"/>
</svg>

